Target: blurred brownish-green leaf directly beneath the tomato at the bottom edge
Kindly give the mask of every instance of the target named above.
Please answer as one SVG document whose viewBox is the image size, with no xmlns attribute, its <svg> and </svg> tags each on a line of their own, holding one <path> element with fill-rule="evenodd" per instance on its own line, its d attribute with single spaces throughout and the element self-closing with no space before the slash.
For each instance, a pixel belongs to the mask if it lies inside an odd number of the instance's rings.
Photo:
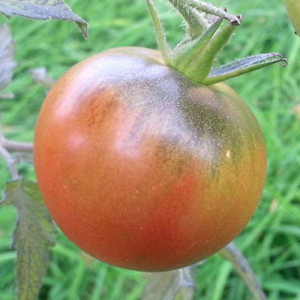
<svg viewBox="0 0 300 300">
<path fill-rule="evenodd" d="M 194 281 L 191 266 L 181 269 L 146 273 L 147 283 L 142 300 L 191 300 Z"/>
</svg>

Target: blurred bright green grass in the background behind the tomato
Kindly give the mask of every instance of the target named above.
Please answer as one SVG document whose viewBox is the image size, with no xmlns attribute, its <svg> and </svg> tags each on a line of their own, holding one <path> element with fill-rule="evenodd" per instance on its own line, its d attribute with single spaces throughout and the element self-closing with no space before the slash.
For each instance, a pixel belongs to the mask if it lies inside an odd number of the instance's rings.
<svg viewBox="0 0 300 300">
<path fill-rule="evenodd" d="M 183 31 L 180 18 L 160 3 L 168 40 L 174 45 Z M 248 258 L 270 300 L 300 299 L 300 117 L 291 113 L 300 104 L 300 38 L 293 34 L 280 0 L 214 0 L 244 16 L 230 44 L 219 57 L 226 62 L 258 52 L 280 52 L 285 68 L 273 65 L 227 81 L 251 107 L 265 136 L 268 169 L 260 204 L 235 242 Z M 142 0 L 69 0 L 72 10 L 89 23 L 84 40 L 75 24 L 12 17 L 17 43 L 15 75 L 1 100 L 4 133 L 32 140 L 34 123 L 45 90 L 30 78 L 28 69 L 45 66 L 56 79 L 69 66 L 106 48 L 137 45 L 156 47 Z M 0 22 L 6 19 L 0 16 Z M 31 165 L 20 172 L 33 179 Z M 0 187 L 9 179 L 0 161 Z M 9 248 L 16 214 L 0 207 L 0 299 L 15 299 L 14 259 Z M 40 293 L 42 300 L 139 299 L 145 279 L 135 271 L 89 260 L 59 233 Z M 251 299 L 230 264 L 213 255 L 197 267 L 195 299 Z"/>
</svg>

